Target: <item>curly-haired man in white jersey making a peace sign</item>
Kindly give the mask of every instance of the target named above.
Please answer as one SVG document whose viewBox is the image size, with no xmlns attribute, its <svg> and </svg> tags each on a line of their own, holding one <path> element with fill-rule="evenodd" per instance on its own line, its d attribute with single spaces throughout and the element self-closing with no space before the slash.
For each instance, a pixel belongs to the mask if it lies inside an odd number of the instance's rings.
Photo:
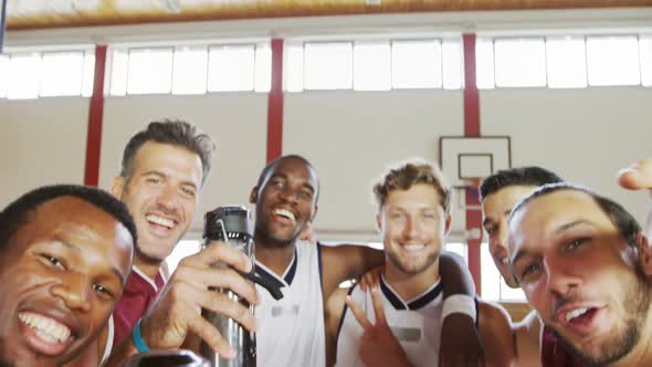
<svg viewBox="0 0 652 367">
<path fill-rule="evenodd" d="M 385 270 L 370 294 L 354 286 L 334 295 L 340 313 L 327 315 L 337 340 L 332 353 L 337 366 L 437 366 L 448 312 L 439 260 L 451 224 L 451 188 L 439 168 L 416 160 L 389 170 L 374 192 Z M 480 302 L 476 318 L 485 364 L 508 366 L 509 316 Z"/>
</svg>

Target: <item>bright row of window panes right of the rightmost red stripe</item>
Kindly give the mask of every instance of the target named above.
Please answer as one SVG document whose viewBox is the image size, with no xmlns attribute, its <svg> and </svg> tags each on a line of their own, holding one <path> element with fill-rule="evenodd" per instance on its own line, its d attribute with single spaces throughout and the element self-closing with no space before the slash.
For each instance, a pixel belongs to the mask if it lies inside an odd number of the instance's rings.
<svg viewBox="0 0 652 367">
<path fill-rule="evenodd" d="M 479 88 L 652 85 L 650 35 L 479 38 Z"/>
</svg>

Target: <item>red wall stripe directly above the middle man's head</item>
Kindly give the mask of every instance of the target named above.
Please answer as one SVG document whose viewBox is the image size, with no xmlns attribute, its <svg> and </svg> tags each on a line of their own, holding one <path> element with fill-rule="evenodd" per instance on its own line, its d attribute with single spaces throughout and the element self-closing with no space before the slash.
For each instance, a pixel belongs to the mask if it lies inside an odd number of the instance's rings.
<svg viewBox="0 0 652 367">
<path fill-rule="evenodd" d="M 272 88 L 267 99 L 267 161 L 283 153 L 283 40 L 272 40 Z"/>
</svg>

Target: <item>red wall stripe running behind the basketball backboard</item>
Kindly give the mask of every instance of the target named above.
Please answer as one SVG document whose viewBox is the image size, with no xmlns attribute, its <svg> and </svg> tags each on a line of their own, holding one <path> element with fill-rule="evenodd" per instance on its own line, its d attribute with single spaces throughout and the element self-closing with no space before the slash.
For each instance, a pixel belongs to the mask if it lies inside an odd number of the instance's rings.
<svg viewBox="0 0 652 367">
<path fill-rule="evenodd" d="M 475 34 L 462 35 L 464 45 L 464 136 L 480 136 L 480 94 L 475 78 Z M 479 209 L 480 200 L 477 188 L 466 189 L 466 230 L 482 228 L 482 211 Z M 469 270 L 475 281 L 477 294 L 482 295 L 480 245 L 482 239 L 469 239 Z"/>
</svg>

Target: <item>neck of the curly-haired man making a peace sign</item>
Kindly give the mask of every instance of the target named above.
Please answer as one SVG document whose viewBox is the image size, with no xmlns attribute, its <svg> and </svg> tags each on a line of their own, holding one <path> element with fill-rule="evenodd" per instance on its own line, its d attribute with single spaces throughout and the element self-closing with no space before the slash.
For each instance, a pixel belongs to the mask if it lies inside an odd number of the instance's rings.
<svg viewBox="0 0 652 367">
<path fill-rule="evenodd" d="M 385 266 L 385 281 L 402 300 L 412 300 L 439 281 L 439 259 L 418 274 L 404 273 L 388 261 Z"/>
</svg>

